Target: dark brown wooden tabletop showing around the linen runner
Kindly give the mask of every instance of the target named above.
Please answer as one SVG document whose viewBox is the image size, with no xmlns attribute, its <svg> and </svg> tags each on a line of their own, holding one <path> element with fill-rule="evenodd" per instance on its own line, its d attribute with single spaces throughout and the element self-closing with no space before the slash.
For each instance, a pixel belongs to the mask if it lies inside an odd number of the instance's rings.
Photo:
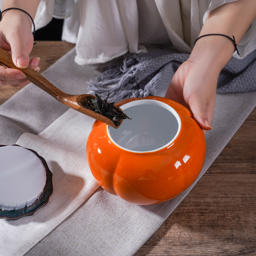
<svg viewBox="0 0 256 256">
<path fill-rule="evenodd" d="M 39 41 L 40 72 L 74 47 Z M 0 86 L 0 104 L 19 88 Z M 135 256 L 256 255 L 256 108 Z M 47 255 L 46 255 L 47 256 Z"/>
</svg>

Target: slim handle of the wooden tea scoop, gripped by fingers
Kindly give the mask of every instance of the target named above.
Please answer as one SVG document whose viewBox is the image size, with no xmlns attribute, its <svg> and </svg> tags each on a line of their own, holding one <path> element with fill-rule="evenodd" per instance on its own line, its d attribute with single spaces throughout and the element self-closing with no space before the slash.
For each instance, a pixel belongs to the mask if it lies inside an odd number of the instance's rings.
<svg viewBox="0 0 256 256">
<path fill-rule="evenodd" d="M 22 71 L 27 76 L 28 81 L 35 84 L 45 92 L 49 93 L 50 95 L 52 95 L 52 97 L 56 98 L 59 96 L 61 99 L 66 98 L 66 95 L 67 95 L 66 93 L 60 91 L 60 89 L 58 89 L 56 86 L 50 83 L 44 76 L 42 76 L 33 68 L 30 68 L 30 67 L 17 68 L 12 62 L 12 55 L 1 48 L 0 48 L 0 62 L 8 68 L 15 68 Z"/>
</svg>

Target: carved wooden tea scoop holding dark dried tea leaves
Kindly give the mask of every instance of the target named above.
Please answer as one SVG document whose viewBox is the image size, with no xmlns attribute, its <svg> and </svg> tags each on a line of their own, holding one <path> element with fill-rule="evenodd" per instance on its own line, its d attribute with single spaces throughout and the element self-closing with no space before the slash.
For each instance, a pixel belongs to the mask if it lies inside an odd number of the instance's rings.
<svg viewBox="0 0 256 256">
<path fill-rule="evenodd" d="M 26 76 L 27 79 L 44 90 L 45 92 L 49 93 L 54 97 L 56 100 L 60 101 L 61 103 L 67 105 L 70 108 L 73 108 L 87 116 L 91 116 L 94 119 L 97 119 L 101 121 L 102 123 L 108 124 L 114 128 L 118 128 L 122 122 L 123 119 L 120 119 L 120 124 L 116 126 L 111 119 L 109 119 L 106 116 L 102 116 L 98 113 L 95 113 L 91 109 L 87 109 L 81 106 L 81 103 L 79 101 L 87 101 L 90 99 L 96 99 L 95 96 L 91 94 L 78 94 L 78 95 L 72 95 L 67 94 L 65 92 L 60 91 L 56 86 L 54 86 L 52 83 L 50 83 L 44 76 L 42 76 L 40 73 L 38 73 L 33 68 L 27 67 L 27 68 L 17 68 L 13 62 L 12 62 L 12 55 L 9 52 L 4 51 L 0 48 L 0 62 L 4 64 L 4 66 L 8 68 L 15 68 L 21 70 Z M 109 103 L 108 103 L 109 104 Z M 120 109 L 121 110 L 121 109 Z"/>
</svg>

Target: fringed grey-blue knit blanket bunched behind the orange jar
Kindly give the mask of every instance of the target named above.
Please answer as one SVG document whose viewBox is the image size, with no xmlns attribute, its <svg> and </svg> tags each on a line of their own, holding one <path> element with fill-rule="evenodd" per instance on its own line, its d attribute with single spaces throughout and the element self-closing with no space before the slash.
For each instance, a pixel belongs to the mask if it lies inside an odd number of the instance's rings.
<svg viewBox="0 0 256 256">
<path fill-rule="evenodd" d="M 89 82 L 91 93 L 119 101 L 131 97 L 155 95 L 166 90 L 172 76 L 189 54 L 171 50 L 127 54 L 102 66 L 105 71 Z M 211 71 L 209 71 L 211 72 Z M 256 91 L 256 50 L 244 59 L 231 58 L 218 78 L 217 93 Z"/>
</svg>

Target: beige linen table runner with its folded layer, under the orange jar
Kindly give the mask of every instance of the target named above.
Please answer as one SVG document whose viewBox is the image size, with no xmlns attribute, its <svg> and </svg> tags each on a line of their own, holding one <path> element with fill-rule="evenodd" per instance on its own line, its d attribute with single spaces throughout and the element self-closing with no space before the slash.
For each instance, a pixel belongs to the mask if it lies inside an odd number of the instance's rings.
<svg viewBox="0 0 256 256">
<path fill-rule="evenodd" d="M 61 77 L 63 84 L 60 88 L 62 86 L 66 92 L 71 88 L 68 76 L 79 77 L 82 70 L 76 64 L 67 64 L 72 63 L 74 55 L 74 51 L 69 52 L 44 73 L 50 81 L 56 76 Z M 95 74 L 88 72 L 87 80 Z M 76 84 L 81 89 L 84 83 L 77 78 Z M 38 124 L 34 124 L 29 114 L 35 110 L 26 109 L 25 103 L 22 104 L 22 113 L 17 108 L 15 111 L 10 109 L 24 95 L 32 93 L 38 99 L 44 94 L 33 85 L 21 91 L 0 108 L 0 131 L 3 131 L 0 139 L 11 144 L 15 136 L 22 134 L 17 144 L 36 150 L 46 159 L 53 172 L 54 192 L 49 203 L 33 216 L 14 221 L 0 220 L 1 256 L 26 252 L 31 256 L 133 255 L 193 188 L 256 105 L 255 92 L 217 95 L 212 123 L 214 130 L 206 134 L 206 159 L 197 180 L 169 202 L 140 206 L 98 188 L 89 171 L 85 153 L 86 138 L 93 123 L 90 117 L 72 109 L 65 112 L 66 109 L 58 105 L 60 109 L 55 121 L 54 115 L 50 115 L 53 122 L 46 126 L 35 117 L 34 122 L 38 120 Z M 55 104 L 53 98 L 45 97 L 40 102 L 41 108 L 36 100 L 31 102 L 35 104 L 38 116 L 45 114 L 47 104 Z M 21 120 L 16 112 L 28 119 Z M 35 135 L 42 127 L 45 130 Z"/>
</svg>

